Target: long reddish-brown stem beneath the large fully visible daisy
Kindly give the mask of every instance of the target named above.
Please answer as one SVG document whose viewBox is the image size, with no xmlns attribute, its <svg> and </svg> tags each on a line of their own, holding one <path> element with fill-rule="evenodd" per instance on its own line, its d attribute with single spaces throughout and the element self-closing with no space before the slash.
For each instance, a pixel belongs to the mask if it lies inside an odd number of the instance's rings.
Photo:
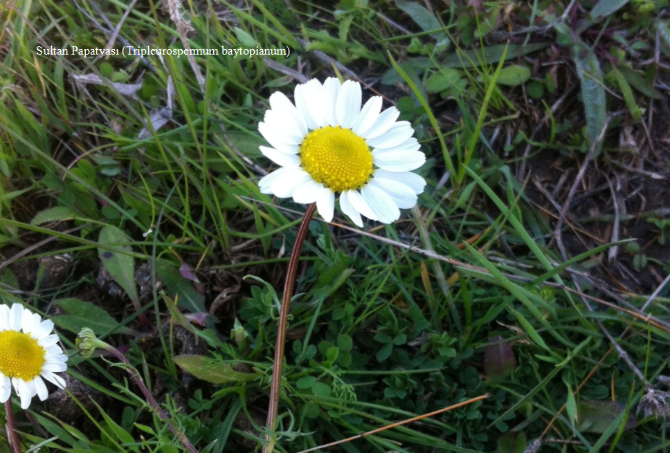
<svg viewBox="0 0 670 453">
<path fill-rule="evenodd" d="M 302 252 L 302 243 L 305 242 L 307 236 L 307 227 L 314 212 L 316 211 L 316 203 L 311 203 L 307 206 L 305 216 L 302 217 L 298 234 L 296 235 L 296 242 L 293 243 L 293 250 L 291 251 L 291 259 L 289 259 L 289 267 L 286 272 L 286 280 L 284 280 L 284 294 L 282 295 L 282 305 L 279 312 L 279 319 L 277 320 L 277 342 L 275 343 L 275 359 L 272 364 L 272 381 L 270 384 L 270 403 L 268 405 L 268 418 L 266 428 L 272 432 L 275 430 L 277 423 L 277 412 L 279 409 L 279 399 L 282 391 L 282 367 L 284 365 L 284 345 L 286 343 L 286 327 L 289 322 L 289 309 L 291 308 L 291 297 L 293 296 L 293 287 L 296 286 L 296 272 L 298 271 L 298 261 L 300 261 L 300 252 Z M 274 450 L 277 436 L 268 433 L 265 436 L 265 445 L 263 453 L 271 453 Z"/>
</svg>

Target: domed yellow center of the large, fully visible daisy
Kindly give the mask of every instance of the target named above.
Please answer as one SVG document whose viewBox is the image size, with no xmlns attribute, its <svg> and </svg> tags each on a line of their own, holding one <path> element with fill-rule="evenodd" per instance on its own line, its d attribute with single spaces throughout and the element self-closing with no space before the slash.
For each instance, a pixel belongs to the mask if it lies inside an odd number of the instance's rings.
<svg viewBox="0 0 670 453">
<path fill-rule="evenodd" d="M 300 145 L 302 168 L 333 192 L 357 189 L 372 174 L 372 153 L 363 138 L 350 129 L 322 127 Z"/>
</svg>

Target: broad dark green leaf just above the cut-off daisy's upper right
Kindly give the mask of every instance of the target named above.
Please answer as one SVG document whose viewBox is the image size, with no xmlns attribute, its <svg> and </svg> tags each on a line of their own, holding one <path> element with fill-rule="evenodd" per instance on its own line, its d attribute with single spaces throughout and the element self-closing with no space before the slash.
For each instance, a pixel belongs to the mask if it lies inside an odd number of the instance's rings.
<svg viewBox="0 0 670 453">
<path fill-rule="evenodd" d="M 119 326 L 118 322 L 99 306 L 80 299 L 60 299 L 54 302 L 67 314 L 51 317 L 53 324 L 61 329 L 79 333 L 84 327 L 91 329 L 96 335 L 110 332 L 132 335 L 132 329 Z"/>
</svg>

